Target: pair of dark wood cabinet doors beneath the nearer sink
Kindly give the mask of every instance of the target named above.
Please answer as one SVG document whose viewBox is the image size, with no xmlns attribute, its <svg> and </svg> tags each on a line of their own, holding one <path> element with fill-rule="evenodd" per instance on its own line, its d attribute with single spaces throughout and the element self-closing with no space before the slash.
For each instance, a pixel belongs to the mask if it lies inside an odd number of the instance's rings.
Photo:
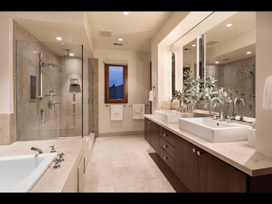
<svg viewBox="0 0 272 204">
<path fill-rule="evenodd" d="M 246 192 L 247 176 L 176 136 L 175 173 L 191 192 Z"/>
</svg>

